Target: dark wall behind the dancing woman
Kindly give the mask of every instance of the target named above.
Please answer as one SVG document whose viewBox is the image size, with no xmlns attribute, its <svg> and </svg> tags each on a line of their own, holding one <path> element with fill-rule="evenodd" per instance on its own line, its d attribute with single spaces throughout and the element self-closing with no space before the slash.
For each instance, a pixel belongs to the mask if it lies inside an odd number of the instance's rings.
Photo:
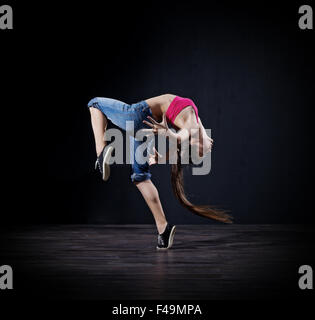
<svg viewBox="0 0 315 320">
<path fill-rule="evenodd" d="M 11 4 L 14 30 L 0 32 L 3 222 L 153 223 L 129 166 L 113 166 L 107 183 L 94 172 L 86 104 L 163 93 L 192 98 L 212 129 L 210 175 L 186 172 L 193 201 L 237 223 L 314 222 L 304 3 Z M 152 168 L 168 218 L 212 223 L 180 207 L 169 171 Z"/>
</svg>

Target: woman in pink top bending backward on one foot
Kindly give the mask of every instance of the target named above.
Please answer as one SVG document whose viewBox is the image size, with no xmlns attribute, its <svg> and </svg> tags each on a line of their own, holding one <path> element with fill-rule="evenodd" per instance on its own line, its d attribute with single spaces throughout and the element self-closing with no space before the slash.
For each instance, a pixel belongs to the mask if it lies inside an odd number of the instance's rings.
<svg viewBox="0 0 315 320">
<path fill-rule="evenodd" d="M 188 98 L 182 98 L 173 94 L 163 94 L 154 98 L 140 101 L 132 105 L 109 98 L 94 98 L 88 103 L 91 113 L 91 122 L 95 138 L 97 161 L 96 166 L 102 174 L 103 180 L 107 180 L 110 174 L 109 160 L 113 148 L 104 141 L 104 133 L 108 120 L 112 121 L 121 129 L 126 130 L 126 121 L 133 121 L 135 131 L 146 129 L 151 133 L 171 135 L 179 143 L 177 164 L 172 164 L 171 181 L 173 191 L 179 202 L 193 213 L 230 223 L 230 216 L 224 211 L 192 204 L 185 196 L 183 188 L 183 173 L 180 159 L 180 144 L 189 141 L 191 145 L 197 146 L 199 155 L 203 156 L 210 152 L 213 140 L 206 134 L 205 128 L 198 117 L 198 109 L 194 102 Z M 149 122 L 149 121 L 150 122 Z M 176 130 L 173 132 L 169 125 Z M 198 137 L 190 132 L 198 132 Z M 142 141 L 130 137 L 134 150 L 142 144 Z M 158 191 L 151 181 L 149 166 L 158 162 L 161 155 L 155 150 L 149 155 L 149 161 L 140 164 L 134 158 L 132 164 L 131 180 L 137 186 L 147 205 L 149 206 L 158 230 L 157 249 L 168 249 L 172 246 L 175 234 L 175 226 L 167 222 Z M 136 152 L 133 152 L 135 155 Z"/>
</svg>

